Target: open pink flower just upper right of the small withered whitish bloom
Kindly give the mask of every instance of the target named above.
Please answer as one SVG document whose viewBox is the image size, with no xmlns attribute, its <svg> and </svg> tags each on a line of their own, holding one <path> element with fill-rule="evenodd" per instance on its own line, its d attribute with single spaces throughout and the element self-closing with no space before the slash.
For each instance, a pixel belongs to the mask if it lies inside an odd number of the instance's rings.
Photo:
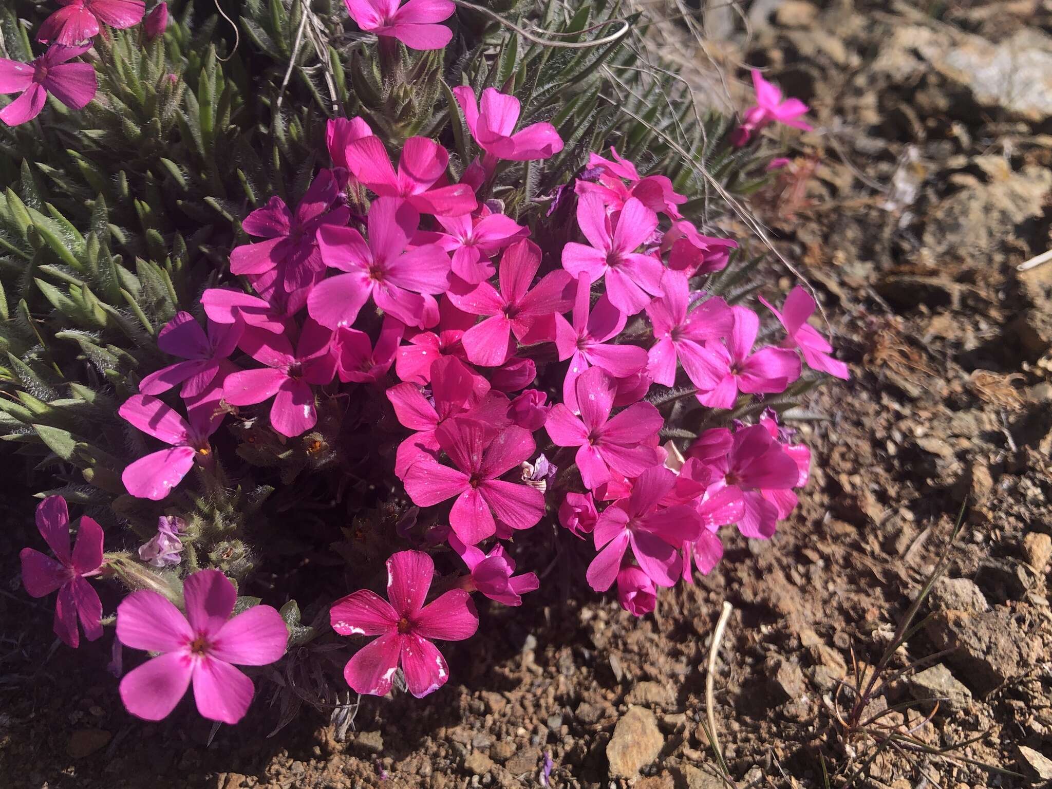
<svg viewBox="0 0 1052 789">
<path fill-rule="evenodd" d="M 614 381 L 602 367 L 591 367 L 576 380 L 581 418 L 563 403 L 548 413 L 545 430 L 559 446 L 576 446 L 576 463 L 585 487 L 594 490 L 610 480 L 610 469 L 625 477 L 638 477 L 662 462 L 656 443 L 665 424 L 650 403 L 634 403 L 610 419 Z M 613 581 L 611 576 L 611 583 Z M 608 584 L 609 586 L 609 584 Z"/>
</svg>

